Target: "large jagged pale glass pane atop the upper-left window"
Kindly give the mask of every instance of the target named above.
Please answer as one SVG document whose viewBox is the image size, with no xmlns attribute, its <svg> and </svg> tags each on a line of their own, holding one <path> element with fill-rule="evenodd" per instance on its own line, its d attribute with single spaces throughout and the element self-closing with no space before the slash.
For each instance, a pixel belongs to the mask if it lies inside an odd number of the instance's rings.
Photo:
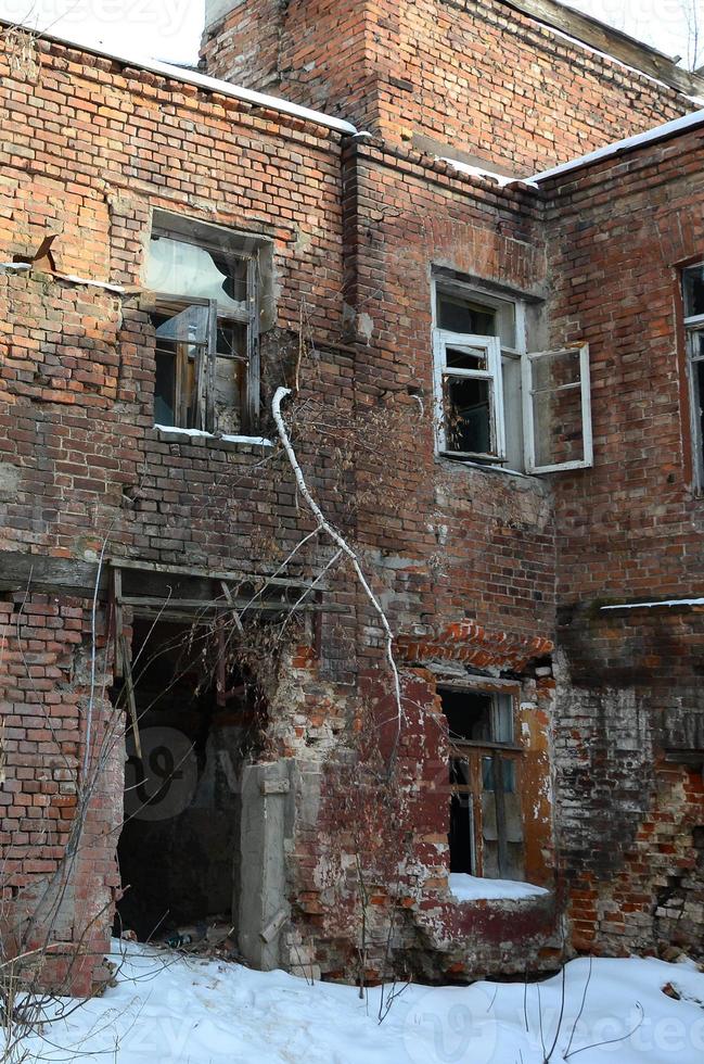
<svg viewBox="0 0 704 1064">
<path fill-rule="evenodd" d="M 152 237 L 146 287 L 154 292 L 217 300 L 225 311 L 246 309 L 246 262 L 182 240 Z"/>
</svg>

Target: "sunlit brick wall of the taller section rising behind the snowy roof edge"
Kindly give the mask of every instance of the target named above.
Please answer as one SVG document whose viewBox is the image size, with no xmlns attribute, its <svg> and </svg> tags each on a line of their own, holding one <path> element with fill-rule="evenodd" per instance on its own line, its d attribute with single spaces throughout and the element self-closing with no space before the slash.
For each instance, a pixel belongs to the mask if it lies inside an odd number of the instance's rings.
<svg viewBox="0 0 704 1064">
<path fill-rule="evenodd" d="M 391 143 L 423 135 L 521 175 L 692 110 L 500 0 L 247 0 L 209 27 L 203 56 Z"/>
</svg>

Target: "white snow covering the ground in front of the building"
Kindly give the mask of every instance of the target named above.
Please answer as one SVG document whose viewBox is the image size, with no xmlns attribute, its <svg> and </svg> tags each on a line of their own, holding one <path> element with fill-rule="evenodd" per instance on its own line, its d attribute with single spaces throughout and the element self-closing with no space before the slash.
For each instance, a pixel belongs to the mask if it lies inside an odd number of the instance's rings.
<svg viewBox="0 0 704 1064">
<path fill-rule="evenodd" d="M 310 985 L 282 972 L 251 972 L 238 964 L 183 958 L 145 946 L 114 946 L 129 949 L 125 957 L 112 957 L 120 965 L 117 986 L 66 1019 L 47 1024 L 43 1039 L 28 1047 L 30 1061 L 542 1064 L 548 1059 L 552 1064 L 565 1060 L 702 1064 L 704 1060 L 704 975 L 689 962 L 573 961 L 565 970 L 561 1024 L 562 976 L 556 976 L 527 987 L 521 983 L 411 986 L 380 1025 L 379 990 L 370 990 L 362 1001 L 354 987 Z M 679 1000 L 663 993 L 664 986 Z M 548 1056 L 558 1027 L 556 1049 Z M 593 1043 L 602 1044 L 585 1048 Z"/>
</svg>

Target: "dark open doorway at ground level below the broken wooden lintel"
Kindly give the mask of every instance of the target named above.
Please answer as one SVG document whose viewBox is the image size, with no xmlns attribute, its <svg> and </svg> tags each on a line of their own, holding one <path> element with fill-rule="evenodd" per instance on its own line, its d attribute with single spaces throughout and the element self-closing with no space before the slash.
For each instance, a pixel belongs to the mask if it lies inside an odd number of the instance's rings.
<svg viewBox="0 0 704 1064">
<path fill-rule="evenodd" d="M 209 626 L 169 622 L 136 622 L 132 679 L 142 756 L 130 727 L 118 925 L 140 940 L 215 920 L 234 925 L 239 783 L 258 731 L 255 687 L 218 669 Z"/>
</svg>

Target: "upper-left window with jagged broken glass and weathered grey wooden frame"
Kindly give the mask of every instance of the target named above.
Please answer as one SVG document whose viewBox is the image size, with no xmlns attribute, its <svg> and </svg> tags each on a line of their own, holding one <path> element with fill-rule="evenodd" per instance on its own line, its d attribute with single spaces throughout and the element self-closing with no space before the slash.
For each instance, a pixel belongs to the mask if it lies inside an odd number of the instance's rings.
<svg viewBox="0 0 704 1064">
<path fill-rule="evenodd" d="M 156 425 L 221 434 L 257 429 L 266 243 L 155 215 L 146 287 L 155 293 Z"/>
</svg>

